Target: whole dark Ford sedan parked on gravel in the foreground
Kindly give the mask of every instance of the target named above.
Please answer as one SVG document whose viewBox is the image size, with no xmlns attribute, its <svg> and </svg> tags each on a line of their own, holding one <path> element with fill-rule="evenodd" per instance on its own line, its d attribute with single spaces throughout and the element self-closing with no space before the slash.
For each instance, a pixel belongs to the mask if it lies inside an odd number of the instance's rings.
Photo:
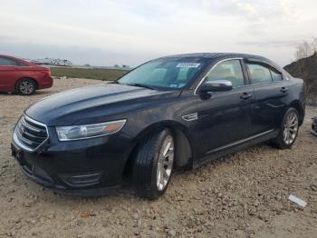
<svg viewBox="0 0 317 238">
<path fill-rule="evenodd" d="M 193 168 L 271 141 L 290 148 L 305 112 L 303 80 L 261 56 L 162 57 L 99 84 L 33 104 L 12 154 L 44 186 L 108 193 L 125 178 L 150 199 L 175 167 Z"/>
</svg>

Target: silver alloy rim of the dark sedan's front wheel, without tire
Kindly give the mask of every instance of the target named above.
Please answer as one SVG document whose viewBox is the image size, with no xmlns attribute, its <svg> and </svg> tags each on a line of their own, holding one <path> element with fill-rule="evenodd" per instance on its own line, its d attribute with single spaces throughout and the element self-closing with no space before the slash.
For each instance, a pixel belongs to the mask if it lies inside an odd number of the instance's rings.
<svg viewBox="0 0 317 238">
<path fill-rule="evenodd" d="M 159 152 L 159 161 L 157 168 L 157 187 L 159 191 L 167 186 L 170 174 L 172 173 L 174 163 L 174 140 L 168 135 Z"/>
</svg>

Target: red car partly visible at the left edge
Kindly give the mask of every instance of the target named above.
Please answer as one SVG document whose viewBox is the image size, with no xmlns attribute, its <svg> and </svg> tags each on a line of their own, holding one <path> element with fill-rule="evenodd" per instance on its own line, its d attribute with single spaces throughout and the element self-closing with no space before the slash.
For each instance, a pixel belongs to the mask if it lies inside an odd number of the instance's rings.
<svg viewBox="0 0 317 238">
<path fill-rule="evenodd" d="M 0 55 L 0 92 L 30 95 L 53 85 L 48 68 L 12 56 Z"/>
</svg>

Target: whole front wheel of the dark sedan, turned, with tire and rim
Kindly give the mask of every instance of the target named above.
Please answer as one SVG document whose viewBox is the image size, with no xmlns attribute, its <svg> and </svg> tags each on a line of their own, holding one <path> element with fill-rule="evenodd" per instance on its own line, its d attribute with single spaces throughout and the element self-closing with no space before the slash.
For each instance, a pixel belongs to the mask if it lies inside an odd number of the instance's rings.
<svg viewBox="0 0 317 238">
<path fill-rule="evenodd" d="M 174 145 L 168 129 L 142 140 L 133 164 L 133 187 L 139 196 L 154 200 L 166 192 L 173 172 Z"/>
</svg>

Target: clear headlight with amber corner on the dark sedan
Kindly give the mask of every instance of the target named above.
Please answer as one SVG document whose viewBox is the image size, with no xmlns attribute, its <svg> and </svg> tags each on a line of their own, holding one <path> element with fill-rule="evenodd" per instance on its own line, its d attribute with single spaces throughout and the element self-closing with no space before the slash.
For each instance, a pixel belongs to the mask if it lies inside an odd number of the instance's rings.
<svg viewBox="0 0 317 238">
<path fill-rule="evenodd" d="M 127 120 L 120 120 L 102 124 L 57 126 L 56 132 L 60 141 L 89 139 L 117 133 L 126 122 Z"/>
</svg>

